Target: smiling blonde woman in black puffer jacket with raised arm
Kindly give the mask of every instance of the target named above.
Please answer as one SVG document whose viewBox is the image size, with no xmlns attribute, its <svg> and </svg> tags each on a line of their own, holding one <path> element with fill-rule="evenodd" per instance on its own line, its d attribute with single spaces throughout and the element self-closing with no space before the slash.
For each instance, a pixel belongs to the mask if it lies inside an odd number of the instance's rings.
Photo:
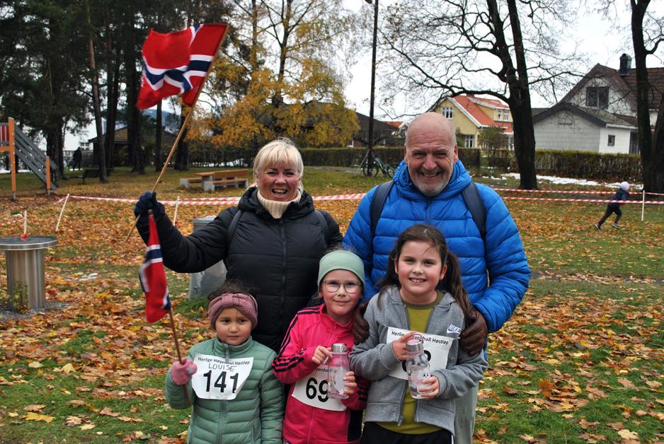
<svg viewBox="0 0 664 444">
<path fill-rule="evenodd" d="M 145 242 L 148 210 L 154 211 L 169 269 L 195 273 L 226 259 L 227 279 L 248 284 L 256 295 L 258 326 L 253 338 L 275 351 L 295 313 L 316 294 L 319 260 L 329 247 L 341 243 L 336 221 L 314 209 L 304 191 L 303 170 L 302 156 L 290 140 L 271 141 L 258 151 L 255 183 L 238 206 L 225 209 L 189 236 L 173 226 L 156 194 L 146 192 L 134 207 Z"/>
</svg>

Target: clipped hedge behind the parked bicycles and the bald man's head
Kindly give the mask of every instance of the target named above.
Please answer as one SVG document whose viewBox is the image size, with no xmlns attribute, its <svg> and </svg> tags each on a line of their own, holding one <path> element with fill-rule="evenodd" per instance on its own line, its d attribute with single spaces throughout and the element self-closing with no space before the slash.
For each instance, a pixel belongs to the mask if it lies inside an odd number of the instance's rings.
<svg viewBox="0 0 664 444">
<path fill-rule="evenodd" d="M 360 165 L 366 148 L 302 148 L 302 160 L 307 166 L 343 166 Z M 374 147 L 374 156 L 386 163 L 398 165 L 403 160 L 403 148 L 391 146 Z M 479 167 L 481 151 L 479 148 L 459 148 L 459 158 L 466 167 Z"/>
</svg>

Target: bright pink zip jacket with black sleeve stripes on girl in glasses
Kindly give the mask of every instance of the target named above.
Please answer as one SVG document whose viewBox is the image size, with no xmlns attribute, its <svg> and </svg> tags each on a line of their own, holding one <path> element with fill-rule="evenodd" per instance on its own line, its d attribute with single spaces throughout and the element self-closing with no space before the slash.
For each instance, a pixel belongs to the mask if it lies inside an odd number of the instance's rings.
<svg viewBox="0 0 664 444">
<path fill-rule="evenodd" d="M 297 312 L 272 363 L 277 379 L 291 384 L 283 427 L 284 439 L 291 444 L 360 442 L 362 409 L 367 405 L 369 390 L 367 380 L 356 377 L 357 390 L 353 396 L 340 400 L 346 407 L 344 411 L 312 405 L 317 401 L 321 402 L 320 405 L 330 403 L 327 382 L 315 378 L 318 365 L 311 361 L 311 356 L 316 346 L 331 347 L 332 344 L 343 343 L 348 351 L 353 347 L 353 334 L 350 332 L 353 320 L 339 325 L 324 313 L 324 307 L 323 304 Z"/>
</svg>

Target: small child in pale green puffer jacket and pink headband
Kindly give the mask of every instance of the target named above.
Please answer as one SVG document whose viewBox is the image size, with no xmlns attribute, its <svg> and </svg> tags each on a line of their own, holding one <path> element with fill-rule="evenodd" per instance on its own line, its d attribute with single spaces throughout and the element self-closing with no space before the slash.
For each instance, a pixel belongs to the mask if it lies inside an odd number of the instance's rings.
<svg viewBox="0 0 664 444">
<path fill-rule="evenodd" d="M 227 281 L 208 296 L 215 336 L 193 346 L 184 364 L 166 375 L 166 400 L 173 409 L 193 406 L 188 443 L 279 443 L 283 387 L 272 372 L 275 352 L 251 339 L 256 300 L 241 284 Z"/>
</svg>

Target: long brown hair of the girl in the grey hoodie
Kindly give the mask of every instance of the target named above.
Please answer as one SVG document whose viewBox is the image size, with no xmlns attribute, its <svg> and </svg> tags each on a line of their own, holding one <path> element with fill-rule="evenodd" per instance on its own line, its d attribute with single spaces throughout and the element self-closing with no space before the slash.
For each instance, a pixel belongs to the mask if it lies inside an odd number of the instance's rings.
<svg viewBox="0 0 664 444">
<path fill-rule="evenodd" d="M 380 292 L 378 293 L 378 308 L 380 308 L 380 297 L 383 292 L 392 286 L 396 288 L 401 288 L 401 283 L 399 283 L 399 275 L 396 274 L 394 264 L 399 261 L 399 256 L 401 256 L 401 250 L 403 245 L 406 245 L 407 242 L 425 242 L 429 243 L 435 250 L 440 254 L 440 262 L 443 267 L 447 264 L 447 271 L 445 276 L 439 283 L 439 286 L 442 285 L 442 288 L 445 288 L 446 291 L 449 291 L 454 300 L 457 301 L 462 311 L 464 312 L 464 317 L 466 320 L 469 320 L 472 304 L 468 298 L 468 293 L 461 280 L 461 269 L 459 267 L 459 260 L 447 249 L 447 242 L 445 242 L 445 236 L 440 233 L 440 230 L 434 226 L 427 225 L 425 223 L 418 223 L 411 227 L 406 228 L 406 230 L 401 233 L 399 238 L 396 240 L 396 245 L 389 253 L 387 258 L 387 273 L 383 276 L 378 282 L 380 287 Z"/>
</svg>

